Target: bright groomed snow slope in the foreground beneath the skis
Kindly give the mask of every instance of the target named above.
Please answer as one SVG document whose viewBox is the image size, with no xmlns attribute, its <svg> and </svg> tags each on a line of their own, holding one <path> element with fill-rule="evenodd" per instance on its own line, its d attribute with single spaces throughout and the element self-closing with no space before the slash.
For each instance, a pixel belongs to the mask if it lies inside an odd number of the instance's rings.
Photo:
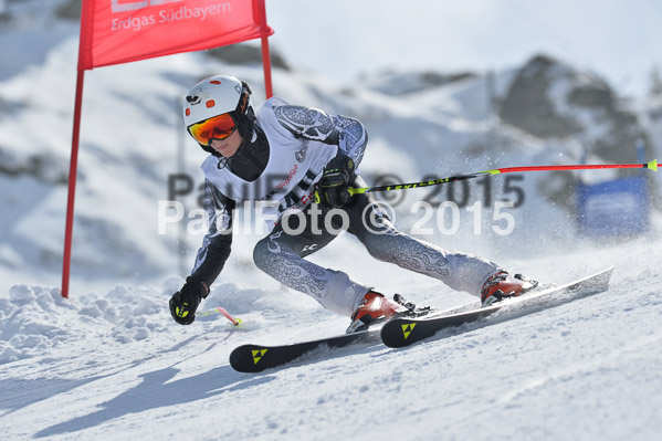
<svg viewBox="0 0 662 441">
<path fill-rule="evenodd" d="M 611 290 L 393 350 L 326 350 L 234 372 L 232 347 L 337 333 L 346 321 L 277 290 L 217 286 L 222 317 L 170 323 L 162 288 L 62 301 L 17 286 L 0 303 L 6 439 L 658 439 L 662 430 L 660 241 L 523 263 L 570 280 L 616 264 Z M 655 255 L 658 259 L 648 259 Z M 438 305 L 438 284 L 401 292 Z M 241 298 L 241 301 L 239 301 Z M 7 343 L 6 343 L 7 345 Z M 18 358 L 9 361 L 7 357 Z M 39 416 L 38 418 L 35 416 Z"/>
</svg>

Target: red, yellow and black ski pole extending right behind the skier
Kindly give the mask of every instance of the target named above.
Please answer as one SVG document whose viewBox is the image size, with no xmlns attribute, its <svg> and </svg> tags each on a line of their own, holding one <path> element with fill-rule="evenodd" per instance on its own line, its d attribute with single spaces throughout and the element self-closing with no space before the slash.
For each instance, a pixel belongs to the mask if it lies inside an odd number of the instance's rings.
<svg viewBox="0 0 662 441">
<path fill-rule="evenodd" d="M 592 169 L 606 169 L 606 168 L 648 168 L 653 171 L 658 171 L 658 160 L 653 159 L 650 162 L 643 164 L 605 164 L 605 165 L 569 165 L 569 166 L 525 166 L 525 167 L 504 167 L 504 168 L 495 168 L 494 170 L 484 170 L 484 171 L 475 171 L 469 175 L 458 175 L 451 176 L 449 178 L 439 178 L 432 180 L 425 180 L 421 182 L 410 182 L 410 183 L 395 183 L 390 186 L 377 186 L 377 187 L 361 187 L 361 188 L 348 188 L 349 195 L 361 195 L 361 193 L 371 193 L 377 191 L 392 191 L 392 190 L 407 190 L 410 188 L 420 188 L 420 187 L 430 187 L 430 186 L 439 186 L 441 183 L 455 182 L 460 180 L 480 178 L 481 176 L 493 176 L 493 175 L 503 175 L 503 174 L 512 174 L 512 172 L 523 172 L 523 171 L 554 171 L 554 170 L 592 170 Z M 319 203 L 319 195 L 318 191 L 315 190 L 314 196 L 315 202 Z"/>
</svg>

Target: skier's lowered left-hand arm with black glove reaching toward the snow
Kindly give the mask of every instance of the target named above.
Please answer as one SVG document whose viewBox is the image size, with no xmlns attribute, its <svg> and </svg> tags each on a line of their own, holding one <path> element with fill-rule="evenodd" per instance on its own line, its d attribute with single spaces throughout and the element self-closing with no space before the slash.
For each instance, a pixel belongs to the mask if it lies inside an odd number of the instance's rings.
<svg viewBox="0 0 662 441">
<path fill-rule="evenodd" d="M 193 323 L 200 302 L 209 295 L 209 286 L 230 256 L 234 201 L 206 181 L 203 206 L 209 217 L 209 232 L 202 240 L 191 275 L 170 298 L 170 314 L 180 325 Z"/>
</svg>

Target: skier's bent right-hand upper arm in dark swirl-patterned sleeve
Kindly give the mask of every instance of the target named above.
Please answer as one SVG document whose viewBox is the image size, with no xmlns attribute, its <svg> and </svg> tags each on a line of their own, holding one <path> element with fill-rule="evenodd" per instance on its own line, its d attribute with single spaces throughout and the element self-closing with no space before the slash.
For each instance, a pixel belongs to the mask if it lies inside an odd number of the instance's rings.
<svg viewBox="0 0 662 441">
<path fill-rule="evenodd" d="M 357 167 L 360 164 L 368 144 L 368 134 L 358 119 L 292 105 L 277 106 L 274 112 L 279 123 L 295 137 L 336 145 L 338 156 L 350 157 Z"/>
</svg>

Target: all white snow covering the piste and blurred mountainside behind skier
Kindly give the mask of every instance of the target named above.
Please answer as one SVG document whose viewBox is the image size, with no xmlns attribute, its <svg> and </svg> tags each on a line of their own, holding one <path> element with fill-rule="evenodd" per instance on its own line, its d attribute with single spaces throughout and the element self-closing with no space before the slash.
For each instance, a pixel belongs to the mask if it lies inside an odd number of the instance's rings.
<svg viewBox="0 0 662 441">
<path fill-rule="evenodd" d="M 0 2 L 0 9 L 20 4 Z M 483 204 L 474 212 L 460 208 L 453 234 L 440 233 L 435 220 L 423 223 L 435 231 L 423 239 L 544 282 L 613 265 L 608 292 L 404 349 L 322 349 L 281 369 L 239 374 L 228 363 L 239 345 L 324 337 L 348 324 L 255 270 L 252 248 L 262 234 L 240 211 L 237 224 L 245 229 L 235 234 L 232 256 L 200 311 L 222 306 L 243 324 L 235 327 L 220 314 L 175 324 L 168 300 L 201 241 L 182 229 L 198 208 L 204 158 L 181 135 L 178 99 L 200 77 L 230 72 L 251 83 L 260 104 L 260 67 L 183 54 L 86 74 L 72 290 L 62 298 L 66 187 L 59 179 L 69 170 L 77 30 L 60 23 L 50 34 L 40 20 L 0 32 L 2 48 L 34 44 L 27 57 L 0 55 L 0 157 L 3 167 L 27 170 L 0 174 L 2 439 L 659 439 L 662 217 L 653 210 L 651 230 L 638 238 L 578 237 L 571 214 L 540 193 L 563 185 L 546 174 L 511 182 L 525 195 L 522 207 L 506 210 L 512 234 L 494 231 L 503 221 Z M 497 96 L 513 72 L 495 73 Z M 413 74 L 403 77 L 417 85 Z M 287 101 L 366 123 L 370 145 L 361 169 L 368 180 L 569 164 L 579 156 L 576 139 L 542 140 L 497 127 L 484 105 L 484 76 L 402 96 L 375 86 L 388 81 L 348 87 L 318 74 L 274 72 L 276 93 Z M 660 103 L 641 108 L 660 153 Z M 33 122 L 40 130 L 27 138 Z M 496 147 L 477 148 L 495 129 Z M 45 166 L 34 166 L 34 158 L 48 158 Z M 195 190 L 178 198 L 185 222 L 158 234 L 158 201 L 176 172 L 190 175 Z M 513 198 L 504 177 L 491 179 L 492 201 Z M 661 177 L 651 181 L 659 188 Z M 471 202 L 484 201 L 485 188 L 471 182 Z M 416 201 L 446 196 L 404 193 L 396 207 L 399 227 L 411 231 L 421 221 L 422 211 L 411 212 Z M 451 225 L 452 214 L 445 216 Z M 421 305 L 476 302 L 374 261 L 348 234 L 311 260 Z"/>
</svg>

